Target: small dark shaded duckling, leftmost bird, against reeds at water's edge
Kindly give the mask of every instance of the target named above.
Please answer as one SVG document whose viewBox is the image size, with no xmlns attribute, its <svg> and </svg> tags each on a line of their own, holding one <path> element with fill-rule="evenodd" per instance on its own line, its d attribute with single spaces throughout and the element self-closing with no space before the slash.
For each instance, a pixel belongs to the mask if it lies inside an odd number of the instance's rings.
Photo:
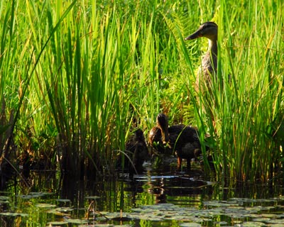
<svg viewBox="0 0 284 227">
<path fill-rule="evenodd" d="M 128 157 L 124 157 L 124 166 L 129 169 L 129 173 L 131 175 L 142 173 L 143 162 L 148 158 L 148 148 L 143 131 L 140 128 L 127 141 L 125 153 Z"/>
</svg>

